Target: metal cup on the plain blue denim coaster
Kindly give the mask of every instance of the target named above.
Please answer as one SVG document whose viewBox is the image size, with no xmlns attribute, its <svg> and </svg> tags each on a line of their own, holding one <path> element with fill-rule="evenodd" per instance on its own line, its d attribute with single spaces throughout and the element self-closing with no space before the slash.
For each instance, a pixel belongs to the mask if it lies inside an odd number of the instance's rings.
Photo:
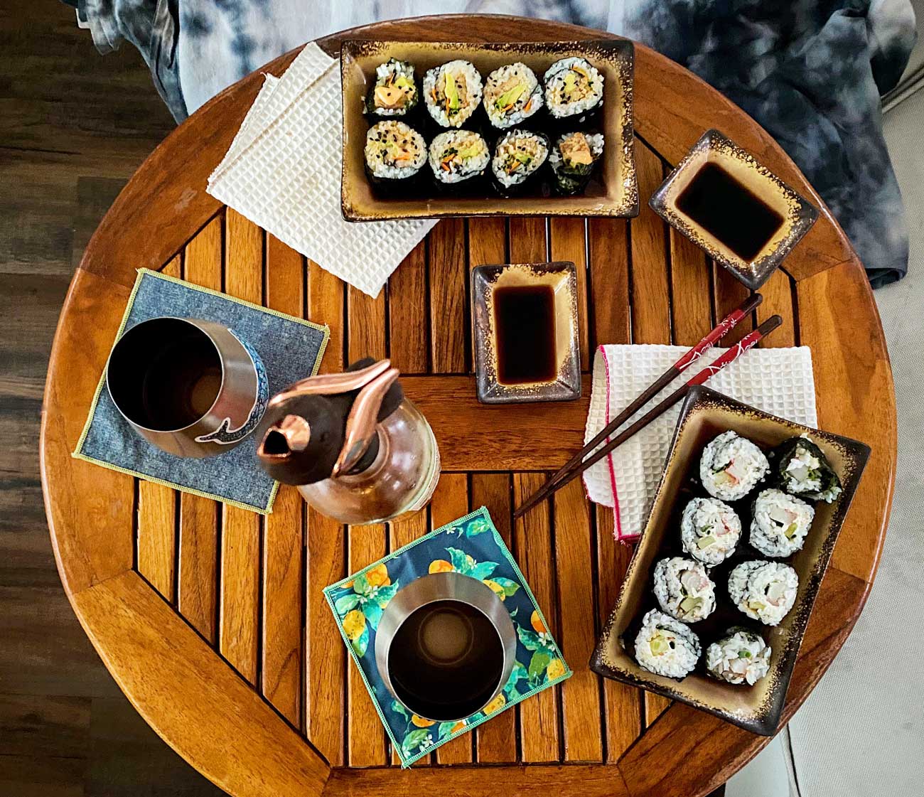
<svg viewBox="0 0 924 797">
<path fill-rule="evenodd" d="M 234 448 L 260 423 L 269 399 L 257 352 L 226 326 L 200 318 L 132 326 L 109 355 L 106 387 L 135 431 L 177 457 Z"/>
</svg>

